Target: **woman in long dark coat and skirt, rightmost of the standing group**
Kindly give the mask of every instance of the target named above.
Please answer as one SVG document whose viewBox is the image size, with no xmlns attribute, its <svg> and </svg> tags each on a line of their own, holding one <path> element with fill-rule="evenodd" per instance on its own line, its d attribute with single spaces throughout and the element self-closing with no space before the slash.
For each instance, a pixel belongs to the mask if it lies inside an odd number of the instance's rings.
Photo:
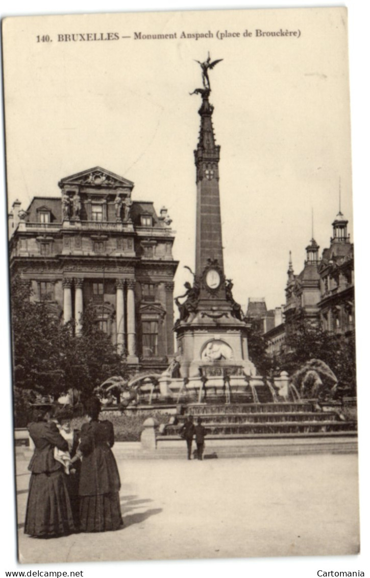
<svg viewBox="0 0 370 578">
<path fill-rule="evenodd" d="M 81 428 L 81 532 L 104 532 L 118 530 L 123 526 L 119 504 L 121 481 L 111 451 L 114 444 L 113 424 L 107 420 L 98 420 L 100 407 L 99 399 L 88 401 L 87 415 L 91 421 Z"/>
</svg>

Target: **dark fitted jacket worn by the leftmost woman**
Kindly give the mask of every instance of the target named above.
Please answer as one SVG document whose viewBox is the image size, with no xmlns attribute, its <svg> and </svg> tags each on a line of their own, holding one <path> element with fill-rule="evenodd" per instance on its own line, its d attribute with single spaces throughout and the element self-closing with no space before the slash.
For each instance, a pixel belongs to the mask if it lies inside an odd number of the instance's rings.
<svg viewBox="0 0 370 578">
<path fill-rule="evenodd" d="M 32 422 L 28 431 L 35 444 L 28 469 L 32 473 L 50 473 L 62 468 L 62 464 L 54 460 L 54 447 L 68 451 L 68 442 L 62 438 L 57 425 L 53 421 Z"/>
</svg>

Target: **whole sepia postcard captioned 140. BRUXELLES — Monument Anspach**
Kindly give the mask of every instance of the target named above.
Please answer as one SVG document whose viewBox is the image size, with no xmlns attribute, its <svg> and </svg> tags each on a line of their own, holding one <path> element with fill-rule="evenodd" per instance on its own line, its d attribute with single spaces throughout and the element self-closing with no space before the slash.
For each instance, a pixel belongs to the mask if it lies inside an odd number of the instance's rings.
<svg viewBox="0 0 370 578">
<path fill-rule="evenodd" d="M 2 47 L 18 560 L 358 554 L 346 9 Z"/>
</svg>

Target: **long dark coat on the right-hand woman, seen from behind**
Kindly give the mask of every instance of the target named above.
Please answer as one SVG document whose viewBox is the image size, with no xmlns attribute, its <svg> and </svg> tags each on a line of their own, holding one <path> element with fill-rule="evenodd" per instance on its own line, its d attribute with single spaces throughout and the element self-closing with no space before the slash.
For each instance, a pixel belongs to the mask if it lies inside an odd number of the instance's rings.
<svg viewBox="0 0 370 578">
<path fill-rule="evenodd" d="M 83 454 L 80 496 L 110 494 L 121 487 L 111 447 L 114 430 L 110 421 L 91 421 L 81 428 L 79 450 Z"/>
</svg>

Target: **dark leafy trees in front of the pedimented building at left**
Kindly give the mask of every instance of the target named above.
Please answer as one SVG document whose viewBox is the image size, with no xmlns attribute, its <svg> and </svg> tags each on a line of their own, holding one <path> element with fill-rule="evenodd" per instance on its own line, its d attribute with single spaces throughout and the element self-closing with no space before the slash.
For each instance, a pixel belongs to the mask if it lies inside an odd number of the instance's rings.
<svg viewBox="0 0 370 578">
<path fill-rule="evenodd" d="M 111 375 L 126 375 L 125 362 L 96 324 L 91 306 L 85 308 L 82 333 L 76 336 L 73 322 L 63 325 L 47 303 L 30 301 L 31 297 L 29 284 L 14 278 L 11 318 L 16 405 L 20 391 L 26 390 L 57 398 L 74 388 L 83 401 Z"/>
</svg>

